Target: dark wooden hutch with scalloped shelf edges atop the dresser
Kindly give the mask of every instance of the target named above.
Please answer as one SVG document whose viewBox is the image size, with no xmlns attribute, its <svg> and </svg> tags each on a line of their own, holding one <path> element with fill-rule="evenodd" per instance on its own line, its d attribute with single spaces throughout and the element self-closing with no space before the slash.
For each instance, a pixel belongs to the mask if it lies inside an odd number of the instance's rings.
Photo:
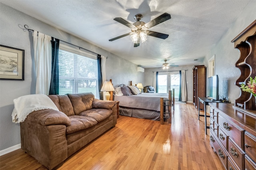
<svg viewBox="0 0 256 170">
<path fill-rule="evenodd" d="M 242 33 L 232 41 L 236 49 L 240 51 L 240 58 L 236 62 L 241 74 L 236 80 L 236 85 L 247 84 L 250 76 L 256 76 L 256 21 L 249 25 Z M 235 101 L 235 106 L 246 110 L 256 110 L 255 97 L 241 90 L 241 95 Z"/>
</svg>

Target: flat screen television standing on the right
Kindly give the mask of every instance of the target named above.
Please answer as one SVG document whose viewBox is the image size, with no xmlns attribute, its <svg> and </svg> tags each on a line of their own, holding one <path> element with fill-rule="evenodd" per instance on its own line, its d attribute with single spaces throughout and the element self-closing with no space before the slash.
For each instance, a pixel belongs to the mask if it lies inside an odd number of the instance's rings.
<svg viewBox="0 0 256 170">
<path fill-rule="evenodd" d="M 206 97 L 212 101 L 219 100 L 219 78 L 218 75 L 207 78 Z"/>
</svg>

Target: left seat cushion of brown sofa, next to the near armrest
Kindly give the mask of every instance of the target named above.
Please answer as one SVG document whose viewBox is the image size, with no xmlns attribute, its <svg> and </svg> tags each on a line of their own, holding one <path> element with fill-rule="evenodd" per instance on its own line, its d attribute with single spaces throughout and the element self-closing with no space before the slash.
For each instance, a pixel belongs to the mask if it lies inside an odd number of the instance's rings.
<svg viewBox="0 0 256 170">
<path fill-rule="evenodd" d="M 78 115 L 72 115 L 68 117 L 71 121 L 71 125 L 66 127 L 66 134 L 81 131 L 97 124 L 97 121 L 92 117 Z"/>
</svg>

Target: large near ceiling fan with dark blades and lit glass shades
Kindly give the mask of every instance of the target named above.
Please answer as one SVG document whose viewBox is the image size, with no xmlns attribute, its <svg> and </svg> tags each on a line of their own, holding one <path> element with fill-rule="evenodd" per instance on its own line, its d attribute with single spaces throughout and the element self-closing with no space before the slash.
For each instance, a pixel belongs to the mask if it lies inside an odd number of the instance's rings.
<svg viewBox="0 0 256 170">
<path fill-rule="evenodd" d="M 114 41 L 116 39 L 130 35 L 132 42 L 134 42 L 134 47 L 138 47 L 140 45 L 140 42 L 143 43 L 144 41 L 146 41 L 147 35 L 161 38 L 161 39 L 166 39 L 169 36 L 168 34 L 154 32 L 148 29 L 151 27 L 154 27 L 155 25 L 158 25 L 159 23 L 162 23 L 166 20 L 171 19 L 170 14 L 164 13 L 156 17 L 155 19 L 149 21 L 148 23 L 140 21 L 141 19 L 142 19 L 142 14 L 136 14 L 134 16 L 134 20 L 136 22 L 131 24 L 130 22 L 124 20 L 123 18 L 114 18 L 115 21 L 118 21 L 119 23 L 122 23 L 123 25 L 131 28 L 132 32 L 109 39 L 108 41 Z"/>
</svg>

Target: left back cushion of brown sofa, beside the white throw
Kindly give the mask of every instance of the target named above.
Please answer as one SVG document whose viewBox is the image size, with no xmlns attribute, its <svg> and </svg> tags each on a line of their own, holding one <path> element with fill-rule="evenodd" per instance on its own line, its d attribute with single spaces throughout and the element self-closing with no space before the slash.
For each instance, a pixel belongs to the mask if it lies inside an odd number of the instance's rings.
<svg viewBox="0 0 256 170">
<path fill-rule="evenodd" d="M 54 102 L 59 111 L 65 113 L 67 116 L 75 115 L 68 95 L 49 95 L 48 97 L 52 100 L 52 102 Z"/>
</svg>

